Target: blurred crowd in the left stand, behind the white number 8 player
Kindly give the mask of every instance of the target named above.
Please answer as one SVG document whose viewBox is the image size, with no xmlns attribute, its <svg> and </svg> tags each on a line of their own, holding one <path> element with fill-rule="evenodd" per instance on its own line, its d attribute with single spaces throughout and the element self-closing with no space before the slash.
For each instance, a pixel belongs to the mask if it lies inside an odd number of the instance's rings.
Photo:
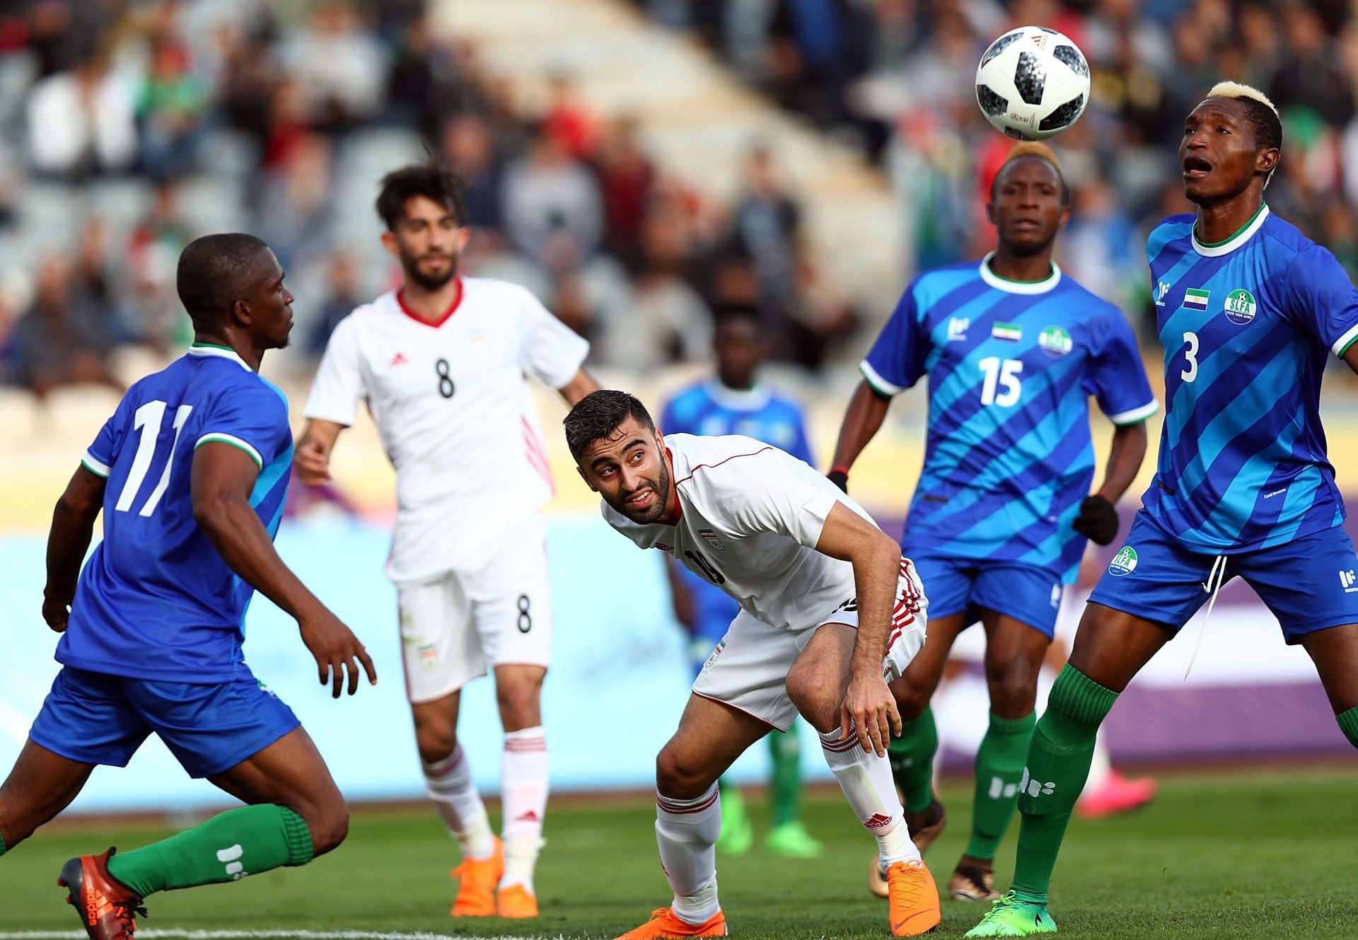
<svg viewBox="0 0 1358 940">
<path fill-rule="evenodd" d="M 178 253 L 225 228 L 274 247 L 297 295 L 296 352 L 314 359 L 397 283 L 378 179 L 430 158 L 467 182 L 464 273 L 527 284 L 593 341 L 593 364 L 706 357 L 713 318 L 741 307 L 778 357 L 822 365 L 856 311 L 805 251 L 774 155 L 752 147 L 744 192 L 713 202 L 566 73 L 526 113 L 520 76 L 489 75 L 425 7 L 0 5 L 0 383 L 115 384 L 111 350 L 182 346 Z"/>
</svg>

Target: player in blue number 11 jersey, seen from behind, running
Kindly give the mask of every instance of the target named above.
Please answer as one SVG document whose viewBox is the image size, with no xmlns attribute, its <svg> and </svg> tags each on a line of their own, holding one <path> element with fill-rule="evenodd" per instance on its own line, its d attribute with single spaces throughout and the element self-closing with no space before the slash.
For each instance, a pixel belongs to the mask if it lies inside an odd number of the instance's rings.
<svg viewBox="0 0 1358 940">
<path fill-rule="evenodd" d="M 292 710 L 240 653 L 255 590 L 296 618 L 340 695 L 363 645 L 282 564 L 273 535 L 292 460 L 288 403 L 258 375 L 285 346 L 292 295 L 253 235 L 208 235 L 179 257 L 189 353 L 137 382 L 57 503 L 42 617 L 62 664 L 0 788 L 0 854 L 56 816 L 96 765 L 156 734 L 193 777 L 249 806 L 162 842 L 61 868 L 86 930 L 128 940 L 153 891 L 303 865 L 340 845 L 348 808 Z M 103 511 L 103 542 L 80 562 Z"/>
</svg>

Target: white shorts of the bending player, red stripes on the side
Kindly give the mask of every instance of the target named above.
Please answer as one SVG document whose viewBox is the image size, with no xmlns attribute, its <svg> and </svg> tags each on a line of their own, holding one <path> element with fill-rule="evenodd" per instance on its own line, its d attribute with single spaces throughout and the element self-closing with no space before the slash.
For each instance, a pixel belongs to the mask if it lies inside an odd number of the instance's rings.
<svg viewBox="0 0 1358 940">
<path fill-rule="evenodd" d="M 925 645 L 928 610 L 929 600 L 919 575 L 909 558 L 902 558 L 887 655 L 881 660 L 887 682 L 898 678 Z M 857 599 L 846 598 L 838 607 L 826 611 L 820 622 L 804 630 L 782 630 L 741 610 L 698 672 L 693 683 L 694 694 L 724 702 L 778 731 L 786 731 L 797 720 L 797 708 L 788 698 L 788 671 L 811 643 L 812 634 L 826 623 L 857 628 Z"/>
</svg>

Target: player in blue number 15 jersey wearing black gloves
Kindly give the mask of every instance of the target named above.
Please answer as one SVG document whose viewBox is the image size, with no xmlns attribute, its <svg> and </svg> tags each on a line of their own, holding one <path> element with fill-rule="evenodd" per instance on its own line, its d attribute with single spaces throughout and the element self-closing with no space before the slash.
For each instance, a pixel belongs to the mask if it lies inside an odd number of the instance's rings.
<svg viewBox="0 0 1358 940">
<path fill-rule="evenodd" d="M 929 636 L 892 683 L 904 729 L 891 758 L 923 849 L 944 825 L 929 700 L 953 641 L 979 621 L 990 723 L 976 753 L 971 839 L 948 883 L 963 901 L 998 897 L 995 849 L 1013 818 L 1062 585 L 1074 581 L 1086 537 L 1107 545 L 1118 534 L 1114 504 L 1141 467 L 1142 422 L 1156 410 L 1127 318 L 1051 259 L 1069 216 L 1051 151 L 1014 147 L 991 182 L 987 212 L 994 253 L 925 272 L 906 288 L 862 361 L 831 470 L 843 485 L 891 397 L 928 374 L 925 463 L 900 547 L 929 592 Z M 1092 494 L 1089 395 L 1115 425 Z M 876 863 L 869 888 L 884 891 Z"/>
</svg>

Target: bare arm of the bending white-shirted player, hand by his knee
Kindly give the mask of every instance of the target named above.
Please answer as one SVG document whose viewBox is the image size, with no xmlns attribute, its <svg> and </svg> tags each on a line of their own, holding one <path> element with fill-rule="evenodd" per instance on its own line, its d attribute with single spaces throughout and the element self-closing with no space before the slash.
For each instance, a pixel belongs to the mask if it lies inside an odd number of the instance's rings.
<svg viewBox="0 0 1358 940">
<path fill-rule="evenodd" d="M 839 736 L 849 736 L 851 721 L 864 747 L 870 746 L 879 757 L 885 757 L 892 734 L 900 734 L 896 700 L 881 678 L 881 657 L 887 655 L 891 609 L 900 575 L 900 546 L 843 503 L 835 503 L 826 516 L 816 552 L 853 565 L 858 595 L 858 634 L 849 689 L 839 706 Z"/>
</svg>

